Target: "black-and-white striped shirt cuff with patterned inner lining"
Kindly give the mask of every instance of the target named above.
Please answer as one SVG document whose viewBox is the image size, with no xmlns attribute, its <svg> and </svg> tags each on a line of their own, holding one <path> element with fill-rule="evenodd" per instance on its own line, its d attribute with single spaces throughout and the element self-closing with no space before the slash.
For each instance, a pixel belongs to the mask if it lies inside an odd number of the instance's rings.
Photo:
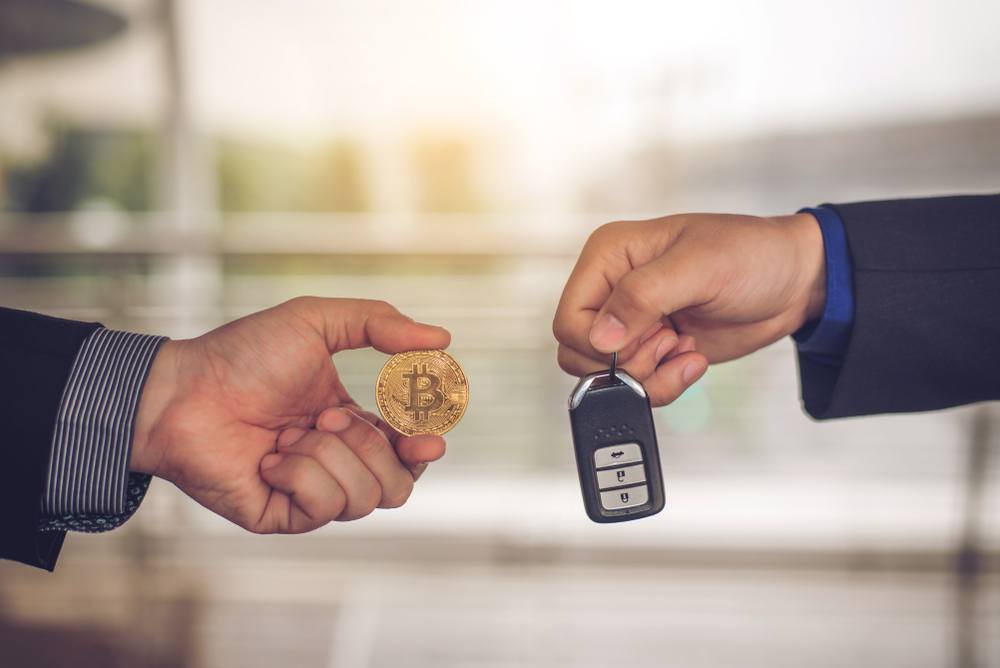
<svg viewBox="0 0 1000 668">
<path fill-rule="evenodd" d="M 99 329 L 80 347 L 56 418 L 41 529 L 104 531 L 138 508 L 149 476 L 128 473 L 135 416 L 165 340 Z"/>
</svg>

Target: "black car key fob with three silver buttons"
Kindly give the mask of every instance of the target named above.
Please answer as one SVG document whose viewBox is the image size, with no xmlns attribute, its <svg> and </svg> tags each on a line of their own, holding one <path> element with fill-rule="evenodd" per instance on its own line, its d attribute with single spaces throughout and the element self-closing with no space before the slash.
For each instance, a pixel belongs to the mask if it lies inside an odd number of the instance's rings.
<svg viewBox="0 0 1000 668">
<path fill-rule="evenodd" d="M 569 421 L 587 515 L 624 522 L 663 510 L 663 474 L 649 397 L 642 384 L 611 368 L 582 378 L 569 399 Z"/>
</svg>

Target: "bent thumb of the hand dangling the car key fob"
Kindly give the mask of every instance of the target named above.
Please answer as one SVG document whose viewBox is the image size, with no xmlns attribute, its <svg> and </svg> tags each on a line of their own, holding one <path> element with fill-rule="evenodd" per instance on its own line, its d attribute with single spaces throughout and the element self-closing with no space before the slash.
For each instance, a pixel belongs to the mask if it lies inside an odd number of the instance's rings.
<svg viewBox="0 0 1000 668">
<path fill-rule="evenodd" d="M 618 352 L 664 316 L 699 303 L 697 276 L 670 252 L 628 272 L 597 312 L 590 345 L 602 353 Z"/>
</svg>

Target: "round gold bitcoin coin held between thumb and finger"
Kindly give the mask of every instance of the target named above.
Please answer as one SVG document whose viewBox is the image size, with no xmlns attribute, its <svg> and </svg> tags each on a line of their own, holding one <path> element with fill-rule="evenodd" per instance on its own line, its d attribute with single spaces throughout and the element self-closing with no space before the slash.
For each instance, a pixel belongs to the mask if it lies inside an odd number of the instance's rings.
<svg viewBox="0 0 1000 668">
<path fill-rule="evenodd" d="M 401 434 L 441 435 L 465 413 L 469 381 L 458 362 L 441 350 L 411 350 L 389 358 L 378 374 L 379 412 Z"/>
</svg>

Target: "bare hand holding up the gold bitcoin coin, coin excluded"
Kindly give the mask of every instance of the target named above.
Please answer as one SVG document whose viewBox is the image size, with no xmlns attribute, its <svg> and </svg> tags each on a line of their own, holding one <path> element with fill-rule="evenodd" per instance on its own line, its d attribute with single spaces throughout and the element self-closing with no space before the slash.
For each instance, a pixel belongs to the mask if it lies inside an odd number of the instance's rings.
<svg viewBox="0 0 1000 668">
<path fill-rule="evenodd" d="M 137 409 L 129 469 L 170 480 L 257 533 L 308 531 L 396 507 L 422 467 L 444 454 L 444 439 L 400 434 L 366 414 L 334 358 L 450 340 L 385 302 L 300 297 L 167 341 Z M 417 384 L 424 406 L 436 403 L 428 388 L 426 379 Z"/>
</svg>

